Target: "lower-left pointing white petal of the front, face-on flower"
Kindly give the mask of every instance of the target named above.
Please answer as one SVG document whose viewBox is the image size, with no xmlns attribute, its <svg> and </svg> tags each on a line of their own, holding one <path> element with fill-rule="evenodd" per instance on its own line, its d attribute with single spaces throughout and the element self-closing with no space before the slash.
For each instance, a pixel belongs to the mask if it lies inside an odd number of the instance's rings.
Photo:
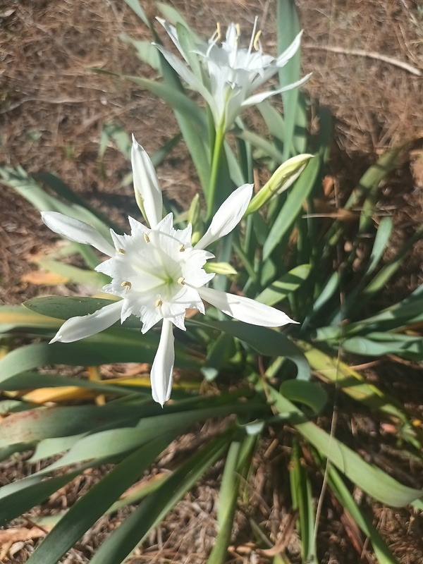
<svg viewBox="0 0 423 564">
<path fill-rule="evenodd" d="M 80 317 L 71 317 L 65 321 L 56 336 L 50 343 L 73 343 L 85 337 L 90 337 L 107 329 L 121 317 L 123 302 L 119 300 L 113 304 L 105 305 L 97 312 Z"/>
</svg>

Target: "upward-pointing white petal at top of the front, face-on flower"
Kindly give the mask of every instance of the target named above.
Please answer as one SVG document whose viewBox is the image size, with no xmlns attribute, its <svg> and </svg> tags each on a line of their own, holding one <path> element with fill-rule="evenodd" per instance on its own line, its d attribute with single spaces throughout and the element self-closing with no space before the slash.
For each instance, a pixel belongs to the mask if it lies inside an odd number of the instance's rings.
<svg viewBox="0 0 423 564">
<path fill-rule="evenodd" d="M 133 136 L 130 154 L 133 167 L 134 188 L 144 200 L 144 209 L 150 227 L 156 227 L 163 214 L 163 198 L 156 171 L 145 150 Z"/>
</svg>

